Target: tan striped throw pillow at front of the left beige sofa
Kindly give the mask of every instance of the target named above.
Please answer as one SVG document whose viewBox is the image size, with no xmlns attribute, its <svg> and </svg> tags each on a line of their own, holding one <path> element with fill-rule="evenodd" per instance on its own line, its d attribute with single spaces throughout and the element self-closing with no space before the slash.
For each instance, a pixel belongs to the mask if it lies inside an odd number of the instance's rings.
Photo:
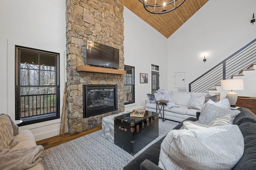
<svg viewBox="0 0 256 170">
<path fill-rule="evenodd" d="M 0 116 L 0 147 L 2 149 L 11 149 L 19 143 L 13 138 L 12 123 L 9 117 L 4 114 Z"/>
</svg>

